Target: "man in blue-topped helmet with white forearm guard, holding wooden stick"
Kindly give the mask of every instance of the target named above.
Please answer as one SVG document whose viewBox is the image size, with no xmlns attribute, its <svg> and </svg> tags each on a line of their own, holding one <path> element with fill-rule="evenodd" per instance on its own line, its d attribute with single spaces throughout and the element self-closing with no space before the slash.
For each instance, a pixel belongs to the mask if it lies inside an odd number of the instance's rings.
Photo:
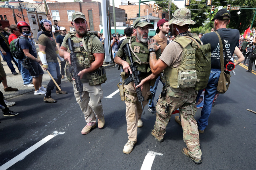
<svg viewBox="0 0 256 170">
<path fill-rule="evenodd" d="M 38 38 L 38 55 L 42 61 L 42 68 L 48 70 L 54 80 L 57 82 L 60 87 L 61 84 L 61 74 L 60 74 L 60 65 L 57 57 L 60 61 L 64 61 L 63 58 L 59 55 L 59 50 L 56 46 L 55 40 L 52 37 L 52 22 L 47 19 L 42 19 L 40 21 L 40 27 L 42 29 L 42 34 Z M 43 101 L 49 103 L 57 102 L 51 97 L 52 90 L 55 87 L 55 83 L 51 78 L 50 82 L 47 85 L 46 93 L 44 95 Z M 56 94 L 67 94 L 67 92 L 59 91 L 56 86 Z"/>
</svg>

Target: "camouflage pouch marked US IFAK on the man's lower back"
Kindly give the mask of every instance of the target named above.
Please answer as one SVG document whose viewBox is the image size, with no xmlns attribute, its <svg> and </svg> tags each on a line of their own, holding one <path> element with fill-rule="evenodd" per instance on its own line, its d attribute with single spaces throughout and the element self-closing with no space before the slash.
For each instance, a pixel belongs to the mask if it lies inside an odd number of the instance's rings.
<svg viewBox="0 0 256 170">
<path fill-rule="evenodd" d="M 196 81 L 196 70 L 179 71 L 177 89 L 194 88 Z"/>
</svg>

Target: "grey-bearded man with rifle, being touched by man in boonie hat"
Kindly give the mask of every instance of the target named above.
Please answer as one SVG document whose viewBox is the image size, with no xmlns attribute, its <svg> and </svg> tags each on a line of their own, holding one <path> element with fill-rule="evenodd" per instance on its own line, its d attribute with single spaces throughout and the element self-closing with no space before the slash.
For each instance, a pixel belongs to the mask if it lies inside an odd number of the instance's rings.
<svg viewBox="0 0 256 170">
<path fill-rule="evenodd" d="M 133 22 L 133 32 L 135 36 L 127 37 L 117 52 L 117 57 L 115 57 L 115 63 L 122 65 L 126 74 L 130 72 L 130 60 L 129 57 L 126 57 L 126 60 L 122 58 L 128 54 L 124 53 L 123 47 L 125 44 L 129 43 L 130 49 L 132 51 L 132 59 L 135 61 L 135 65 L 138 66 L 137 70 L 141 72 L 140 79 L 141 82 L 136 87 L 140 87 L 142 91 L 142 96 L 145 98 L 145 101 L 142 102 L 143 107 L 147 105 L 149 97 L 151 96 L 150 86 L 153 86 L 157 75 L 151 73 L 149 67 L 149 50 L 148 50 L 148 33 L 149 27 L 154 27 L 150 23 L 149 19 L 138 17 Z M 129 49 L 129 50 L 130 50 Z M 156 51 L 157 57 L 160 57 L 161 50 Z M 121 73 L 122 74 L 122 73 Z M 124 80 L 125 77 L 122 77 Z M 125 104 L 126 104 L 126 122 L 127 122 L 127 133 L 129 135 L 128 142 L 124 146 L 123 152 L 129 154 L 133 150 L 133 146 L 137 142 L 137 127 L 142 127 L 141 114 L 142 106 L 138 101 L 136 90 L 134 88 L 134 82 L 124 86 L 125 88 Z"/>
</svg>

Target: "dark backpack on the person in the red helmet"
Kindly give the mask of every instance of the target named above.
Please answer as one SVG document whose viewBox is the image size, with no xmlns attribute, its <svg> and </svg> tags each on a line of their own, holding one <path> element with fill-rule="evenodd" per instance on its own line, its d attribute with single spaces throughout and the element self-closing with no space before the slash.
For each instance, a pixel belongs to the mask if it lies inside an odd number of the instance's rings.
<svg viewBox="0 0 256 170">
<path fill-rule="evenodd" d="M 19 40 L 21 38 L 27 40 L 24 37 L 20 37 L 20 38 L 12 40 L 11 43 L 10 43 L 10 52 L 13 55 L 13 57 L 17 58 L 18 60 L 22 60 L 25 57 L 25 54 L 24 54 L 23 50 L 21 49 L 21 47 L 19 45 Z"/>
</svg>

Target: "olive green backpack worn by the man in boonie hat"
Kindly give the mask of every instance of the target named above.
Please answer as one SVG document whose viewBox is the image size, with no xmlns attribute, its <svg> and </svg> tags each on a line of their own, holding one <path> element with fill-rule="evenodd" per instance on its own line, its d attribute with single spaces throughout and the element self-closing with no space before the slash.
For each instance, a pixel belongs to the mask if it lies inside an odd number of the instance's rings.
<svg viewBox="0 0 256 170">
<path fill-rule="evenodd" d="M 195 90 L 203 90 L 206 88 L 208 84 L 208 80 L 211 73 L 211 44 L 201 45 L 195 39 L 184 36 L 187 38 L 192 39 L 197 48 L 195 49 L 196 53 L 196 75 L 197 75 L 197 82 L 194 87 Z"/>
</svg>

